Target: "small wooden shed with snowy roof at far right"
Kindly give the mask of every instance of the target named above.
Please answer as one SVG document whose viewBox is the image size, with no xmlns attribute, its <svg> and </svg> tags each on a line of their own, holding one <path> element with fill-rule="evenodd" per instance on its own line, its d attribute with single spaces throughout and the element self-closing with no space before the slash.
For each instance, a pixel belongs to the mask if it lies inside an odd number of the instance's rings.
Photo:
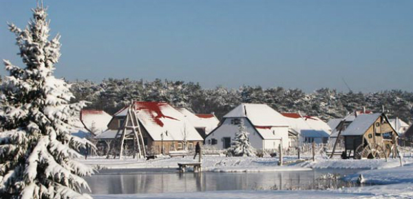
<svg viewBox="0 0 413 199">
<path fill-rule="evenodd" d="M 341 135 L 346 155 L 354 159 L 389 156 L 398 136 L 384 113 L 358 115 Z"/>
</svg>

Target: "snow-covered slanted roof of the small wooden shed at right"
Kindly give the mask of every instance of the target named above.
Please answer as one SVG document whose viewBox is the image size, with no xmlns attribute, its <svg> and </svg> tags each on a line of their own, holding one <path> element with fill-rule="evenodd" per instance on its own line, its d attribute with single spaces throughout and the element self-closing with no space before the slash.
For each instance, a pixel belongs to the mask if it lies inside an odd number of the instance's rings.
<svg viewBox="0 0 413 199">
<path fill-rule="evenodd" d="M 362 114 L 357 116 L 354 121 L 341 132 L 341 135 L 362 135 L 364 134 L 370 126 L 374 124 L 374 121 L 379 118 L 381 113 L 374 114 Z"/>
</svg>

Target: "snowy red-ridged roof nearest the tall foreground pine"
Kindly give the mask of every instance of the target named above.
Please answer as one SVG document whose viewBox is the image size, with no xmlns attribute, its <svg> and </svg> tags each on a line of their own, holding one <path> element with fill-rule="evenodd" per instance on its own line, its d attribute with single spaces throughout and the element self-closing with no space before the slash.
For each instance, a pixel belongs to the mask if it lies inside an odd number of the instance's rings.
<svg viewBox="0 0 413 199">
<path fill-rule="evenodd" d="M 81 121 L 85 128 L 94 131 L 94 134 L 100 134 L 107 130 L 107 124 L 112 116 L 103 110 L 81 110 Z"/>
</svg>

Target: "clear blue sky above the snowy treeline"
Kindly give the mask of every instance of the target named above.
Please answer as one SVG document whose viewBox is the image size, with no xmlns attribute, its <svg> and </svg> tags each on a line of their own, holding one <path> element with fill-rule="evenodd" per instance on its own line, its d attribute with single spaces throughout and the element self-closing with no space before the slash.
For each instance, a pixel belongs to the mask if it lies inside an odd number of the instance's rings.
<svg viewBox="0 0 413 199">
<path fill-rule="evenodd" d="M 413 91 L 413 1 L 45 0 L 62 35 L 56 76 L 155 78 L 306 92 Z M 0 1 L 0 58 L 34 0 Z M 5 74 L 3 67 L 1 75 Z"/>
</svg>

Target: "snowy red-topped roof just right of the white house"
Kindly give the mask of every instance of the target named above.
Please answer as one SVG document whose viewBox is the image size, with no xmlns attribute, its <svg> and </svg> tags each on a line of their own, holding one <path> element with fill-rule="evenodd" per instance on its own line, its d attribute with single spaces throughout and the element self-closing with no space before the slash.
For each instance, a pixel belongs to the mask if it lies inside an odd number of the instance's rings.
<svg viewBox="0 0 413 199">
<path fill-rule="evenodd" d="M 289 128 L 301 137 L 329 137 L 331 128 L 318 117 L 304 116 L 298 113 L 282 113 L 288 121 Z"/>
</svg>

